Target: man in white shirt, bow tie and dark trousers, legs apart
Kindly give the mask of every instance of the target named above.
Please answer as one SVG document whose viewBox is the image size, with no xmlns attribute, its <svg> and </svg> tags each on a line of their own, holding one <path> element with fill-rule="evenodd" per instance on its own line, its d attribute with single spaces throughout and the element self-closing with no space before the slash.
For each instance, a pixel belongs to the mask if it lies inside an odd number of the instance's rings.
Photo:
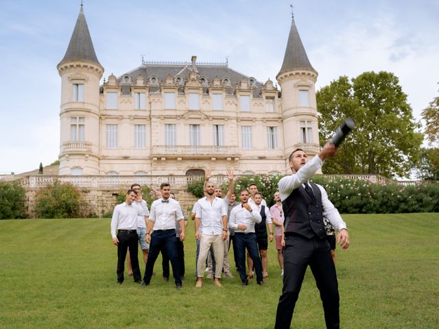
<svg viewBox="0 0 439 329">
<path fill-rule="evenodd" d="M 167 256 L 171 260 L 176 287 L 181 289 L 182 281 L 176 245 L 176 221 L 180 223 L 180 241 L 185 241 L 185 217 L 178 201 L 169 197 L 171 186 L 168 183 L 162 183 L 160 191 L 162 197 L 152 203 L 150 218 L 147 221 L 146 242 L 150 243 L 150 252 L 145 266 L 143 285 L 150 285 L 154 263 L 156 263 L 161 248 L 165 248 Z"/>
</svg>

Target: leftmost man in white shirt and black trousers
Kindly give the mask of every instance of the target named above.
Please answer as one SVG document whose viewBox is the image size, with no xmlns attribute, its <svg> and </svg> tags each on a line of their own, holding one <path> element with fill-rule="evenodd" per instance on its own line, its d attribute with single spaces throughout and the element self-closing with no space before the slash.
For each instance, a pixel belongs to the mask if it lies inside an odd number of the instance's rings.
<svg viewBox="0 0 439 329">
<path fill-rule="evenodd" d="M 118 204 L 112 212 L 111 236 L 112 244 L 117 245 L 117 283 L 123 282 L 124 263 L 127 249 L 130 250 L 132 259 L 132 273 L 134 282 L 141 283 L 141 273 L 139 269 L 139 259 L 137 258 L 137 216 L 141 214 L 141 209 L 134 206 L 136 198 L 134 190 L 128 190 L 123 204 Z M 117 234 L 116 234 L 117 230 Z"/>
</svg>

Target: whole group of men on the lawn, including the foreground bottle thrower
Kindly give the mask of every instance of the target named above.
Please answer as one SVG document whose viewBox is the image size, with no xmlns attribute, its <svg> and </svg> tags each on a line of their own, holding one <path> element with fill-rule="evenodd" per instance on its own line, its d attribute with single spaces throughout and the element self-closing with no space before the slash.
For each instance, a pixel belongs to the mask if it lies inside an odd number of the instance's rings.
<svg viewBox="0 0 439 329">
<path fill-rule="evenodd" d="M 211 254 L 214 284 L 221 286 L 220 278 L 231 276 L 228 265 L 228 248 L 233 243 L 235 262 L 242 285 L 247 286 L 256 272 L 257 284 L 263 285 L 267 273 L 268 239 L 273 241 L 276 233 L 278 260 L 283 274 L 283 291 L 276 311 L 275 328 L 289 328 L 300 287 L 309 265 L 320 291 L 327 328 L 340 328 L 337 276 L 335 262 L 331 256 L 331 246 L 327 240 L 328 222 L 337 231 L 337 243 L 343 249 L 350 245 L 348 230 L 339 212 L 329 201 L 320 185 L 309 182 L 309 178 L 322 166 L 326 158 L 335 156 L 337 149 L 327 143 L 320 153 L 308 161 L 302 149 L 296 149 L 289 156 L 292 175 L 282 178 L 279 191 L 274 195 L 276 204 L 268 210 L 257 186 L 239 191 L 239 203 L 235 201 L 233 173 L 228 171 L 229 188 L 222 199 L 221 191 L 209 182 L 211 171 L 206 172 L 205 196 L 195 203 L 192 215 L 195 220 L 197 241 L 196 288 L 203 284 L 206 260 Z M 139 186 L 140 188 L 140 186 Z M 117 245 L 117 280 L 123 282 L 123 264 L 127 248 L 130 249 L 134 282 L 145 286 L 150 284 L 154 263 L 165 250 L 171 261 L 177 289 L 182 287 L 182 276 L 178 256 L 177 241 L 185 241 L 185 217 L 180 204 L 170 197 L 169 184 L 161 184 L 161 197 L 152 203 L 149 217 L 147 209 L 133 204 L 137 192 L 128 190 L 126 202 L 116 206 L 112 217 L 111 233 Z M 137 219 L 145 226 L 145 243 L 150 243 L 145 259 L 143 282 L 137 260 L 137 241 L 143 239 L 137 234 Z M 325 226 L 325 221 L 326 226 Z M 144 223 L 143 223 L 144 222 Z M 179 229 L 177 230 L 177 223 Z M 276 226 L 275 232 L 272 224 Z M 269 235 L 267 234 L 267 227 Z M 116 234 L 116 230 L 118 230 Z M 280 233 L 280 234 L 278 234 Z M 178 238 L 177 238 L 178 236 Z M 140 241 L 142 243 L 143 241 Z M 283 255 L 282 255 L 283 247 Z M 143 249 L 143 247 L 142 247 Z M 249 273 L 246 273 L 246 250 L 248 252 Z M 145 254 L 144 254 L 145 255 Z M 181 260 L 181 257 L 180 257 Z M 262 260 L 262 261 L 261 261 Z M 183 260 L 184 264 L 184 260 Z"/>
</svg>

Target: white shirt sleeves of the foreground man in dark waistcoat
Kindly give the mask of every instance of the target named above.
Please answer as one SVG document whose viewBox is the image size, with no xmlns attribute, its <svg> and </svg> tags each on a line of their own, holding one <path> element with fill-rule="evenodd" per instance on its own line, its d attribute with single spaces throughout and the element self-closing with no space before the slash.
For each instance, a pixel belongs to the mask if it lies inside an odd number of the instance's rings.
<svg viewBox="0 0 439 329">
<path fill-rule="evenodd" d="M 323 161 L 319 156 L 314 156 L 311 160 L 301 167 L 296 173 L 283 177 L 278 182 L 279 193 L 281 194 L 281 201 L 287 199 L 287 197 L 292 193 L 292 191 L 298 188 L 302 184 L 307 184 L 309 178 L 316 173 L 316 171 L 322 167 Z M 334 207 L 332 202 L 328 198 L 327 191 L 324 190 L 323 186 L 318 185 L 320 192 L 322 193 L 322 208 L 323 217 L 327 217 L 329 222 L 335 227 L 337 231 L 340 232 L 343 228 L 346 228 L 346 223 L 340 216 L 337 208 Z"/>
</svg>

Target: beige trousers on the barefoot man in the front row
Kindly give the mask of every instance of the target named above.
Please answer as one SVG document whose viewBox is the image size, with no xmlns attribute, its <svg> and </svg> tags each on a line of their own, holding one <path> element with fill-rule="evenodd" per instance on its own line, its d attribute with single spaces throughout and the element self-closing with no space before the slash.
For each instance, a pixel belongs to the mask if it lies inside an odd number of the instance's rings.
<svg viewBox="0 0 439 329">
<path fill-rule="evenodd" d="M 198 255 L 197 273 L 198 278 L 202 278 L 204 275 L 204 268 L 206 266 L 207 254 L 209 249 L 213 247 L 213 256 L 215 256 L 215 262 L 222 264 L 224 259 L 224 243 L 222 241 L 222 234 L 209 235 L 201 234 L 200 239 L 200 254 Z M 215 278 L 221 278 L 222 266 L 215 267 Z"/>
</svg>

